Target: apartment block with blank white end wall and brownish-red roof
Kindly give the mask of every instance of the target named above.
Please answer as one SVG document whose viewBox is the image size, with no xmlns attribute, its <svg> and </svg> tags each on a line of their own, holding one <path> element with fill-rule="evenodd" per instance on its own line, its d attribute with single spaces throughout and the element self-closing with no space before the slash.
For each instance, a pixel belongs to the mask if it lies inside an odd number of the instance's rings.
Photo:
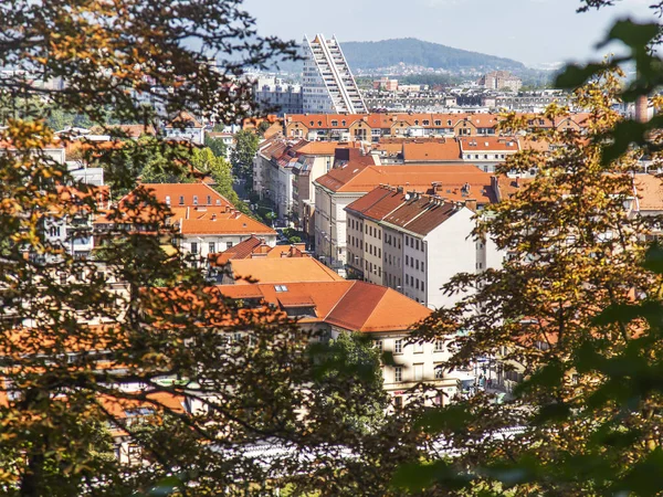
<svg viewBox="0 0 663 497">
<path fill-rule="evenodd" d="M 474 212 L 460 202 L 382 186 L 346 211 L 349 271 L 431 308 L 464 297 L 442 290 L 455 274 L 503 261 L 494 243 L 474 240 Z"/>
</svg>

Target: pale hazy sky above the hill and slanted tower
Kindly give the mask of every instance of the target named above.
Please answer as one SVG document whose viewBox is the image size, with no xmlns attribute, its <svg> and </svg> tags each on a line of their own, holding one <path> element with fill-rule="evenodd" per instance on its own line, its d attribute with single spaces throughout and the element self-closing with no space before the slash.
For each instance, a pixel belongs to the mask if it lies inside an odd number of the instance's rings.
<svg viewBox="0 0 663 497">
<path fill-rule="evenodd" d="M 418 38 L 535 65 L 596 56 L 593 46 L 615 19 L 652 19 L 651 3 L 621 0 L 582 14 L 579 0 L 245 0 L 244 7 L 260 34 Z"/>
</svg>

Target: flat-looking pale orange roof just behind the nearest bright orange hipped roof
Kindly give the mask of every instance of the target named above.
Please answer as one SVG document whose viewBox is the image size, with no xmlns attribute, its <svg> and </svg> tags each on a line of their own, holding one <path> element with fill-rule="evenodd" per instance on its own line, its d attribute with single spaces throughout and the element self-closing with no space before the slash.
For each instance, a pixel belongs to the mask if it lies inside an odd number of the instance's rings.
<svg viewBox="0 0 663 497">
<path fill-rule="evenodd" d="M 235 277 L 251 277 L 260 283 L 338 282 L 343 278 L 313 257 L 254 257 L 231 260 Z M 248 284 L 238 281 L 238 284 Z"/>
</svg>

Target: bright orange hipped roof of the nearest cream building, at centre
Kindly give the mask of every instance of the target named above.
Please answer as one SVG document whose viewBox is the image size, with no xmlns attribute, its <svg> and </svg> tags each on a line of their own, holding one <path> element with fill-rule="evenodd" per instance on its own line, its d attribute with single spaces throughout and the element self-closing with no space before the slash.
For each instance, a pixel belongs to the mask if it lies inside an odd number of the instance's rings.
<svg viewBox="0 0 663 497">
<path fill-rule="evenodd" d="M 329 325 L 361 332 L 406 331 L 430 316 L 431 310 L 383 286 L 359 281 L 287 283 L 254 285 L 221 285 L 218 288 L 230 298 L 260 295 L 265 303 L 277 307 L 314 307 L 315 317 L 303 322 Z"/>
</svg>

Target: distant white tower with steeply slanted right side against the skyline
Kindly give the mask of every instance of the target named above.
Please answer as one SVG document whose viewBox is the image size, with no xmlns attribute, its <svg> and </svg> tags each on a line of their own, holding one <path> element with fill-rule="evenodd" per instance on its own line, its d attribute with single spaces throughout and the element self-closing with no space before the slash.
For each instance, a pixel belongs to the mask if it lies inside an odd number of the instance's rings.
<svg viewBox="0 0 663 497">
<path fill-rule="evenodd" d="M 336 38 L 304 36 L 303 104 L 307 114 L 367 114 L 357 83 Z"/>
</svg>

